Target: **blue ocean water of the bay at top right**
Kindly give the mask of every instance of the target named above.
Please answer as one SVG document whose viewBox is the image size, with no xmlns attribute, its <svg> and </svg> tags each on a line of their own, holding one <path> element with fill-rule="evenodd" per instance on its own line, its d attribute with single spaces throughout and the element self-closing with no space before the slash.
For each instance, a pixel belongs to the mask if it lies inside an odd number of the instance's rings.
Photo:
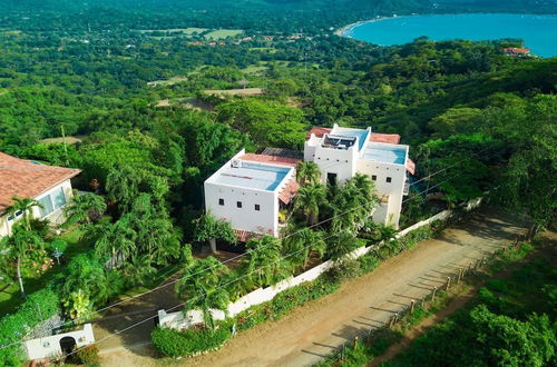
<svg viewBox="0 0 557 367">
<path fill-rule="evenodd" d="M 385 18 L 356 24 L 344 36 L 381 46 L 403 44 L 421 36 L 434 41 L 518 38 L 532 53 L 553 57 L 557 54 L 557 16 L 468 13 Z"/>
</svg>

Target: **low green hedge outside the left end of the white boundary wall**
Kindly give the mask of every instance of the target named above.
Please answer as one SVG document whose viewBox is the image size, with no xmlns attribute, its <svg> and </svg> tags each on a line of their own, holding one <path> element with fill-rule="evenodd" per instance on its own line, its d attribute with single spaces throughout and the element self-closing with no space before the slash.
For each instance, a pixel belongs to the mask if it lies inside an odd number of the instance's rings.
<svg viewBox="0 0 557 367">
<path fill-rule="evenodd" d="M 207 350 L 218 349 L 232 337 L 228 323 L 223 323 L 215 330 L 188 329 L 177 331 L 157 327 L 152 335 L 153 345 L 158 353 L 167 357 L 192 357 Z"/>
</svg>

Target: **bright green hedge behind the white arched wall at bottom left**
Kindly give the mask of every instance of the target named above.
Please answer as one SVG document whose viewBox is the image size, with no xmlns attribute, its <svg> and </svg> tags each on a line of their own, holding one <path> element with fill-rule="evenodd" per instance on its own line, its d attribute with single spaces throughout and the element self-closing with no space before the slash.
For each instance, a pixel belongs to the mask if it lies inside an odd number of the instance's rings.
<svg viewBox="0 0 557 367">
<path fill-rule="evenodd" d="M 60 299 L 50 288 L 29 295 L 18 310 L 0 319 L 0 347 L 21 339 L 41 321 L 60 313 Z M 25 360 L 22 345 L 0 349 L 0 366 L 20 366 Z"/>
</svg>

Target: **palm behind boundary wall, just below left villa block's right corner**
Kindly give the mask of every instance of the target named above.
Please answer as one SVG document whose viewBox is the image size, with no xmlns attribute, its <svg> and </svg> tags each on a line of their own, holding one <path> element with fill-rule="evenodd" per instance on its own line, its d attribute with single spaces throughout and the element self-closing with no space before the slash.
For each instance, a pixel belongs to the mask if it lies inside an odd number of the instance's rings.
<svg viewBox="0 0 557 367">
<path fill-rule="evenodd" d="M 271 286 L 290 275 L 289 264 L 282 258 L 282 242 L 278 238 L 253 238 L 247 242 L 246 249 L 245 270 L 254 284 Z"/>
</svg>

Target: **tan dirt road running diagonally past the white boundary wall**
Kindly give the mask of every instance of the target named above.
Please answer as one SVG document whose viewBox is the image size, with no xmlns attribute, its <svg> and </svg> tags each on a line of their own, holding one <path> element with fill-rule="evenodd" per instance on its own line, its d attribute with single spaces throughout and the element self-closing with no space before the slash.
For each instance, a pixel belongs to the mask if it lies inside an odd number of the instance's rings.
<svg viewBox="0 0 557 367">
<path fill-rule="evenodd" d="M 363 330 L 378 328 L 409 301 L 424 296 L 447 277 L 526 231 L 514 218 L 482 212 L 446 230 L 438 239 L 382 264 L 373 272 L 344 284 L 339 291 L 237 335 L 221 350 L 183 366 L 307 366 Z M 108 351 L 108 353 L 107 353 Z M 104 350 L 102 366 L 157 366 L 150 346 Z"/>
</svg>

